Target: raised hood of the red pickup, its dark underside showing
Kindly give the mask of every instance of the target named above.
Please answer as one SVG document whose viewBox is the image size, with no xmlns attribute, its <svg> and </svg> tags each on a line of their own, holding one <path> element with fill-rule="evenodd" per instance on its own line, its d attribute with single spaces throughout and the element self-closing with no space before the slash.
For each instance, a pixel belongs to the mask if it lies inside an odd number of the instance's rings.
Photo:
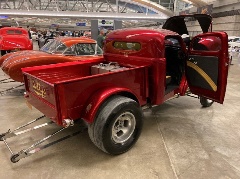
<svg viewBox="0 0 240 179">
<path fill-rule="evenodd" d="M 173 16 L 167 19 L 163 25 L 163 29 L 168 29 L 174 32 L 177 32 L 179 35 L 189 34 L 186 26 L 186 22 L 198 21 L 202 32 L 206 33 L 209 31 L 209 28 L 212 23 L 212 17 L 207 14 L 192 14 L 192 15 L 181 15 Z"/>
</svg>

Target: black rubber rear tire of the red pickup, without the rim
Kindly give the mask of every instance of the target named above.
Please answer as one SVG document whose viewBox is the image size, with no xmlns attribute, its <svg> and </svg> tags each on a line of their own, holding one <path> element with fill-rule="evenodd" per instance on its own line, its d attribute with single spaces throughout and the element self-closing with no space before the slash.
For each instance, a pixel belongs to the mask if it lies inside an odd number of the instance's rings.
<svg viewBox="0 0 240 179">
<path fill-rule="evenodd" d="M 124 111 L 131 111 L 136 119 L 135 130 L 124 144 L 116 144 L 111 139 L 111 122 Z M 88 125 L 91 141 L 102 151 L 119 155 L 127 152 L 138 140 L 143 126 L 143 114 L 139 104 L 127 97 L 112 96 L 99 108 L 94 122 Z"/>
</svg>

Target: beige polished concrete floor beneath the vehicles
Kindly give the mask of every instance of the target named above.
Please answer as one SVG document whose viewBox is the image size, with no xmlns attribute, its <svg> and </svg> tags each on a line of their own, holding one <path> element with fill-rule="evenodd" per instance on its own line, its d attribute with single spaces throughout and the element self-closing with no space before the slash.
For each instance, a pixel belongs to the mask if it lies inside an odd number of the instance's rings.
<svg viewBox="0 0 240 179">
<path fill-rule="evenodd" d="M 233 60 L 223 105 L 201 108 L 181 97 L 146 110 L 142 134 L 127 153 L 110 156 L 95 147 L 87 131 L 18 163 L 0 143 L 0 178 L 8 179 L 236 179 L 240 178 L 240 66 Z M 0 79 L 5 78 L 2 71 Z M 0 86 L 15 86 L 10 83 Z M 0 133 L 42 114 L 29 109 L 22 92 L 0 96 Z M 76 130 L 78 125 L 72 129 Z M 13 151 L 56 130 L 56 126 L 9 139 Z M 66 129 L 62 134 L 69 134 Z"/>
</svg>

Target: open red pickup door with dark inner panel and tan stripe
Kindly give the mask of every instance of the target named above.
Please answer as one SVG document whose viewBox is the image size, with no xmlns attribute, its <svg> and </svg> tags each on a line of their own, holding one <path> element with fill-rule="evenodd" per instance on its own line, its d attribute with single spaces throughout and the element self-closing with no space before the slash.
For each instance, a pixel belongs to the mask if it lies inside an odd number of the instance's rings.
<svg viewBox="0 0 240 179">
<path fill-rule="evenodd" d="M 223 103 L 228 68 L 228 36 L 225 32 L 203 33 L 192 39 L 186 77 L 193 94 Z"/>
</svg>

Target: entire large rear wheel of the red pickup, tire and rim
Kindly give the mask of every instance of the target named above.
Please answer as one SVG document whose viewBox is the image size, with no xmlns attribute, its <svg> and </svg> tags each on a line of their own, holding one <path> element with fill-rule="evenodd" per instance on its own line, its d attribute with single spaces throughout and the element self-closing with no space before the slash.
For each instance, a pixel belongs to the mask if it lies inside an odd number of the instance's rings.
<svg viewBox="0 0 240 179">
<path fill-rule="evenodd" d="M 123 96 L 106 100 L 92 124 L 89 137 L 102 151 L 118 155 L 128 151 L 138 140 L 143 125 L 143 115 L 138 103 Z"/>
</svg>

